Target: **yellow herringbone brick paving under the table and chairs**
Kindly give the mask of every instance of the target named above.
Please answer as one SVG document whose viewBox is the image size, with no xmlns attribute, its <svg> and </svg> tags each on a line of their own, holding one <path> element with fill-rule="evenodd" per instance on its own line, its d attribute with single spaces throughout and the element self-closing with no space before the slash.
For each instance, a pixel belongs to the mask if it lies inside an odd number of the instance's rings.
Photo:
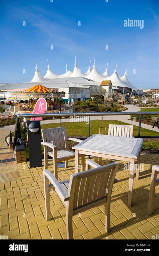
<svg viewBox="0 0 159 256">
<path fill-rule="evenodd" d="M 107 161 L 103 161 L 103 164 Z M 104 205 L 73 217 L 74 239 L 152 239 L 159 231 L 159 186 L 156 186 L 154 210 L 147 215 L 152 165 L 159 164 L 158 155 L 142 155 L 144 172 L 134 178 L 133 205 L 127 207 L 128 170 L 120 161 L 111 200 L 111 232 L 104 229 Z M 9 167 L 8 167 L 9 168 Z M 66 208 L 53 191 L 50 193 L 51 221 L 45 220 L 43 167 L 29 168 L 18 164 L 21 179 L 0 183 L 0 234 L 8 239 L 66 239 Z M 53 172 L 53 163 L 48 169 Z M 58 180 L 69 179 L 75 163 L 58 170 Z"/>
</svg>

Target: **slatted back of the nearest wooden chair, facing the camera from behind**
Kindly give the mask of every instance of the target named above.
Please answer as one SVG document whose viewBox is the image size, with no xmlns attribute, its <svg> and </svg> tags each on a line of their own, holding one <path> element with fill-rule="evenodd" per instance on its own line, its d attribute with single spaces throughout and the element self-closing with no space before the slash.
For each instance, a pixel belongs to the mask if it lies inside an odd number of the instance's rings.
<svg viewBox="0 0 159 256">
<path fill-rule="evenodd" d="M 72 174 L 68 195 L 73 210 L 111 195 L 117 168 L 118 162 Z"/>
</svg>

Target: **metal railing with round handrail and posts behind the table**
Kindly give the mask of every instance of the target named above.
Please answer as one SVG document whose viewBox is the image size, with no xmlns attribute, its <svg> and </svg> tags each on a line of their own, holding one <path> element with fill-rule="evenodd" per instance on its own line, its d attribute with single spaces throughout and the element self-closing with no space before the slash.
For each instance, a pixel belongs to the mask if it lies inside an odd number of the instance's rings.
<svg viewBox="0 0 159 256">
<path fill-rule="evenodd" d="M 138 129 L 138 136 L 140 138 L 159 138 L 159 136 L 140 136 L 141 131 L 141 116 L 147 116 L 147 115 L 159 115 L 159 112 L 96 112 L 96 113 L 58 113 L 58 114 L 32 114 L 32 115 L 17 115 L 16 117 L 16 123 L 15 123 L 15 130 L 14 130 L 14 141 L 17 142 L 18 140 L 18 133 L 19 133 L 19 120 L 21 118 L 36 118 L 36 117 L 70 117 L 70 116 L 88 116 L 89 117 L 89 127 L 88 127 L 88 133 L 89 136 L 91 135 L 91 120 L 90 117 L 92 116 L 140 116 L 139 117 L 139 129 Z M 18 131 L 17 131 L 18 130 Z"/>
</svg>

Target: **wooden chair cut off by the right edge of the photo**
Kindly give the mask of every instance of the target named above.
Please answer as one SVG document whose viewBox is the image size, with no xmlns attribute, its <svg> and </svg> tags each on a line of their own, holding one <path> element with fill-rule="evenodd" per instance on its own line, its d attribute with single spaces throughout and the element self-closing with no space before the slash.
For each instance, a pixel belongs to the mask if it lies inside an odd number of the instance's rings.
<svg viewBox="0 0 159 256">
<path fill-rule="evenodd" d="M 153 165 L 152 174 L 151 174 L 151 183 L 150 183 L 149 202 L 148 202 L 148 212 L 147 212 L 148 215 L 151 215 L 153 212 L 155 186 L 159 184 L 159 179 L 156 179 L 157 172 L 159 172 L 159 165 Z"/>
</svg>

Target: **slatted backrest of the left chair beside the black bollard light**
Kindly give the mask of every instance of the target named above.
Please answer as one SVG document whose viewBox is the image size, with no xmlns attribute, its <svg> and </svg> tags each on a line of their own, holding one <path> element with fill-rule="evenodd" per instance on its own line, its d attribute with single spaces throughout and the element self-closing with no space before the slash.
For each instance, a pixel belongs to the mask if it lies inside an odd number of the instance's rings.
<svg viewBox="0 0 159 256">
<path fill-rule="evenodd" d="M 67 134 L 65 127 L 42 129 L 43 142 L 52 143 L 57 150 L 68 149 Z M 52 149 L 48 148 L 48 152 Z"/>
</svg>

